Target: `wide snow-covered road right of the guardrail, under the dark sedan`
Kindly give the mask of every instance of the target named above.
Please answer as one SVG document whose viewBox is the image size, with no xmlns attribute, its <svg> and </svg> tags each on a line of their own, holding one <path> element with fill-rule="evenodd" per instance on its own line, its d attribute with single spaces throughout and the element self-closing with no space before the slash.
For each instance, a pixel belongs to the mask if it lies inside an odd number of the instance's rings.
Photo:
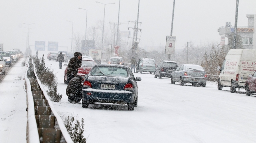
<svg viewBox="0 0 256 143">
<path fill-rule="evenodd" d="M 59 69 L 58 64 L 46 61 L 56 72 L 58 92 L 63 95 L 55 108 L 60 116 L 74 114 L 85 119 L 88 143 L 256 142 L 256 97 L 246 96 L 243 89 L 232 94 L 229 88 L 217 90 L 216 83 L 209 82 L 205 88 L 180 86 L 170 79 L 135 73 L 142 81 L 137 82 L 139 98 L 134 111 L 109 104 L 82 108 L 67 101 L 65 67 Z"/>
</svg>

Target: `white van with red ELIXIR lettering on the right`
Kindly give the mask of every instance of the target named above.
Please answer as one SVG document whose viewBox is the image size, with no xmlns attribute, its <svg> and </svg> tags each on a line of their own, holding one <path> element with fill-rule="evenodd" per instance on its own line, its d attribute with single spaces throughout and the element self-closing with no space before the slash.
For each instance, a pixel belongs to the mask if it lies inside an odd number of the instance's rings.
<svg viewBox="0 0 256 143">
<path fill-rule="evenodd" d="M 230 49 L 220 71 L 218 90 L 230 87 L 234 93 L 236 88 L 245 88 L 247 77 L 256 71 L 256 50 Z"/>
</svg>

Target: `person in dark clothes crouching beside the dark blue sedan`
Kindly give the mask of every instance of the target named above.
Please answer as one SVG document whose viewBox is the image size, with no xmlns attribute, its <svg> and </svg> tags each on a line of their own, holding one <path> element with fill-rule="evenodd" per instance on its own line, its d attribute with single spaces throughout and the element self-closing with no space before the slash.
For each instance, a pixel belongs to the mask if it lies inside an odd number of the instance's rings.
<svg viewBox="0 0 256 143">
<path fill-rule="evenodd" d="M 67 86 L 66 94 L 69 97 L 68 101 L 70 103 L 80 103 L 83 92 L 83 85 L 81 84 L 83 77 L 80 75 L 76 75 L 72 78 Z"/>
</svg>

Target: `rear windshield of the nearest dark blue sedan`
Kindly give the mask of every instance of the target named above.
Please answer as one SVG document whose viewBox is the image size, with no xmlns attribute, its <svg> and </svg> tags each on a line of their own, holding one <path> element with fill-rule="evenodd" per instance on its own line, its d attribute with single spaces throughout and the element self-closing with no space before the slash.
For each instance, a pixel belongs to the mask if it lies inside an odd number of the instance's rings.
<svg viewBox="0 0 256 143">
<path fill-rule="evenodd" d="M 126 68 L 116 66 L 95 66 L 91 70 L 91 75 L 110 76 L 110 77 L 128 77 Z"/>
</svg>

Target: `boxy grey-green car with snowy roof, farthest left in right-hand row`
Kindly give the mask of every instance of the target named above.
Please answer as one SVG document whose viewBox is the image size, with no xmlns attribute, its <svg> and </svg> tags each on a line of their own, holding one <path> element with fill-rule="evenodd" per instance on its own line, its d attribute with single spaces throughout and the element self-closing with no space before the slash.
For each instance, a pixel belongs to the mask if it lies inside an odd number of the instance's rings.
<svg viewBox="0 0 256 143">
<path fill-rule="evenodd" d="M 136 72 L 149 72 L 150 74 L 155 74 L 156 72 L 156 62 L 154 59 L 139 59 L 137 64 Z"/>
</svg>

